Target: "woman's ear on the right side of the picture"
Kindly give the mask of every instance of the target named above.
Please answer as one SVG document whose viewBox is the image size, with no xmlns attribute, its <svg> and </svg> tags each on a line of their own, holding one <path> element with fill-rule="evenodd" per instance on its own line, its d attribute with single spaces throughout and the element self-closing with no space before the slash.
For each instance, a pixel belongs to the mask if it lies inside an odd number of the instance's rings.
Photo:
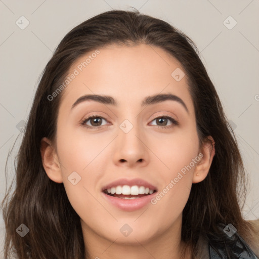
<svg viewBox="0 0 259 259">
<path fill-rule="evenodd" d="M 212 159 L 215 155 L 215 142 L 211 136 L 208 136 L 203 142 L 202 147 L 200 148 L 199 155 L 201 160 L 196 164 L 194 173 L 193 173 L 193 183 L 202 182 L 209 171 Z"/>
</svg>

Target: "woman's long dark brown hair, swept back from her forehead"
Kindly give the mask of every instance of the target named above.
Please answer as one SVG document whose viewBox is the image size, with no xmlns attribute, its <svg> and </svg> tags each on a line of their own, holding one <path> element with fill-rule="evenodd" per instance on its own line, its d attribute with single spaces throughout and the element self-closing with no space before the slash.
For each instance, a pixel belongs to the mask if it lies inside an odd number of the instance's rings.
<svg viewBox="0 0 259 259">
<path fill-rule="evenodd" d="M 245 240 L 252 240 L 252 226 L 242 218 L 246 178 L 237 141 L 224 114 L 199 52 L 193 41 L 168 23 L 138 11 L 112 10 L 73 28 L 62 39 L 42 73 L 26 131 L 18 153 L 16 187 L 3 201 L 6 224 L 5 258 L 83 259 L 85 251 L 80 219 L 72 208 L 63 184 L 51 181 L 42 166 L 40 140 L 55 140 L 61 94 L 50 101 L 82 55 L 111 44 L 157 46 L 174 56 L 188 79 L 195 107 L 200 143 L 207 136 L 215 141 L 215 156 L 204 181 L 193 184 L 183 210 L 182 240 L 197 254 L 197 240 L 224 242 L 218 224 L 231 223 Z M 30 232 L 16 233 L 20 224 Z"/>
</svg>

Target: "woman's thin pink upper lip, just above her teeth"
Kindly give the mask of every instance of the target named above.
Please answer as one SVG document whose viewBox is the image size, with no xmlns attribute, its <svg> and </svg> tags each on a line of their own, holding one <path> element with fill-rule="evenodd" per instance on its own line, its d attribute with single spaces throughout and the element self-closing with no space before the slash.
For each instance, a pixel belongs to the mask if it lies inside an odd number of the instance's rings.
<svg viewBox="0 0 259 259">
<path fill-rule="evenodd" d="M 114 182 L 111 182 L 111 183 L 107 184 L 106 186 L 104 186 L 102 188 L 102 191 L 107 190 L 107 189 L 112 188 L 112 187 L 116 187 L 118 185 L 121 185 L 121 186 L 123 186 L 123 185 L 128 185 L 128 186 L 138 185 L 138 186 L 144 186 L 145 188 L 149 188 L 149 190 L 157 191 L 156 187 L 154 187 L 149 182 L 147 182 L 143 179 L 140 179 L 140 178 L 134 178 L 134 179 L 121 178 L 121 179 L 118 179 L 118 180 L 116 180 Z"/>
</svg>

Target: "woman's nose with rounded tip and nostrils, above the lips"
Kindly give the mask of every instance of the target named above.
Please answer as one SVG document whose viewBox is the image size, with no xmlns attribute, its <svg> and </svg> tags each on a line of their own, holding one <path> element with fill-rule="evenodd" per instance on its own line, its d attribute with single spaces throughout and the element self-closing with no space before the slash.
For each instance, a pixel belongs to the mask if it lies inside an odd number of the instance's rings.
<svg viewBox="0 0 259 259">
<path fill-rule="evenodd" d="M 119 128 L 113 155 L 114 163 L 127 167 L 146 166 L 149 162 L 149 149 L 146 142 L 147 138 L 136 123 L 127 133 Z"/>
</svg>

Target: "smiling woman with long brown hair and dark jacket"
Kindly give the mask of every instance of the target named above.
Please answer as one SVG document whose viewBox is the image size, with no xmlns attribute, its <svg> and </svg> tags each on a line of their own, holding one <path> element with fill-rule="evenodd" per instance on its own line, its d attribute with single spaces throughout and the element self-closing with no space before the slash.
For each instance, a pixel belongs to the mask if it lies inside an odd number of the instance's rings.
<svg viewBox="0 0 259 259">
<path fill-rule="evenodd" d="M 3 203 L 5 258 L 258 258 L 240 152 L 197 53 L 137 11 L 62 39 Z"/>
</svg>

